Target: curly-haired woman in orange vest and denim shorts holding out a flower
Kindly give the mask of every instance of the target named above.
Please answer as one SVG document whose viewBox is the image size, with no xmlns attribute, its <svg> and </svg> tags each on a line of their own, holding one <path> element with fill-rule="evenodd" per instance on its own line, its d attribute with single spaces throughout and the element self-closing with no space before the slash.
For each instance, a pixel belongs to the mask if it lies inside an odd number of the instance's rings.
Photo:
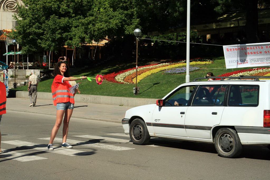
<svg viewBox="0 0 270 180">
<path fill-rule="evenodd" d="M 69 81 L 85 79 L 86 77 L 82 76 L 80 78 L 71 79 L 73 77 L 70 77 L 69 75 L 69 67 L 65 60 L 56 63 L 53 74 L 55 75 L 55 78 L 52 83 L 52 97 L 53 104 L 56 106 L 56 122 L 52 129 L 48 150 L 53 150 L 52 143 L 61 126 L 64 115 L 62 147 L 72 148 L 72 146 L 66 143 L 66 139 L 68 136 L 69 120 L 74 108 L 74 95 L 76 92 L 72 94 L 69 91 L 69 88 L 71 87 Z"/>
</svg>

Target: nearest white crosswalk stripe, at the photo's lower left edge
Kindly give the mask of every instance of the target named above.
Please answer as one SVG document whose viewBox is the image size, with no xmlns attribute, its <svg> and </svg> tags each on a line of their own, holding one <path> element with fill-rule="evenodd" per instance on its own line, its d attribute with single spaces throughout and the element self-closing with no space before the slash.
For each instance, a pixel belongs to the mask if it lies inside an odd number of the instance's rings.
<svg viewBox="0 0 270 180">
<path fill-rule="evenodd" d="M 16 151 L 9 151 L 9 150 L 5 150 L 5 149 L 2 149 L 2 151 L 5 151 L 5 152 L 0 154 L 0 157 L 8 158 L 8 159 L 16 160 L 16 161 L 21 161 L 21 162 L 48 159 L 48 158 L 44 158 L 44 157 L 29 155 L 29 154 L 25 154 L 25 153 L 18 153 Z"/>
</svg>

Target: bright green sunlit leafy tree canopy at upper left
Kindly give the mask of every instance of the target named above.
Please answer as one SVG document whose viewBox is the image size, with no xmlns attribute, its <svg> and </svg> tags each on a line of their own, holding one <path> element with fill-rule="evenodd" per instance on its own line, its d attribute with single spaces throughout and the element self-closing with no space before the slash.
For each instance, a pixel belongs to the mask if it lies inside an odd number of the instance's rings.
<svg viewBox="0 0 270 180">
<path fill-rule="evenodd" d="M 14 17 L 12 36 L 23 51 L 78 47 L 82 43 L 133 33 L 138 26 L 134 1 L 128 0 L 24 0 Z"/>
</svg>

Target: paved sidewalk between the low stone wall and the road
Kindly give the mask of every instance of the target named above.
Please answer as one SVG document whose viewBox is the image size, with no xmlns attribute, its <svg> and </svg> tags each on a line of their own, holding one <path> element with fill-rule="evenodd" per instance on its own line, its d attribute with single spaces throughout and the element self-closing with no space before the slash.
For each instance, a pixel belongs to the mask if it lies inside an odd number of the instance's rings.
<svg viewBox="0 0 270 180">
<path fill-rule="evenodd" d="M 6 110 L 39 113 L 56 116 L 56 106 L 52 100 L 37 99 L 35 107 L 29 107 L 29 99 L 7 98 Z M 75 102 L 71 118 L 92 119 L 121 123 L 129 106 L 105 105 Z M 9 113 L 9 112 L 7 112 Z"/>
</svg>

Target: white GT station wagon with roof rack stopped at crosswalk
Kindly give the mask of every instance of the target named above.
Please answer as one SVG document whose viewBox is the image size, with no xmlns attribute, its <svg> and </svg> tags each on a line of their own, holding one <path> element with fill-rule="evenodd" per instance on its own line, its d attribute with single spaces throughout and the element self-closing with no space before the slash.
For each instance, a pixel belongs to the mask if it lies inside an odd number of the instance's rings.
<svg viewBox="0 0 270 180">
<path fill-rule="evenodd" d="M 127 110 L 125 134 L 139 145 L 150 137 L 214 143 L 227 158 L 240 155 L 242 145 L 270 148 L 270 77 L 202 81 L 208 78 L 182 84 L 156 104 Z"/>
</svg>

